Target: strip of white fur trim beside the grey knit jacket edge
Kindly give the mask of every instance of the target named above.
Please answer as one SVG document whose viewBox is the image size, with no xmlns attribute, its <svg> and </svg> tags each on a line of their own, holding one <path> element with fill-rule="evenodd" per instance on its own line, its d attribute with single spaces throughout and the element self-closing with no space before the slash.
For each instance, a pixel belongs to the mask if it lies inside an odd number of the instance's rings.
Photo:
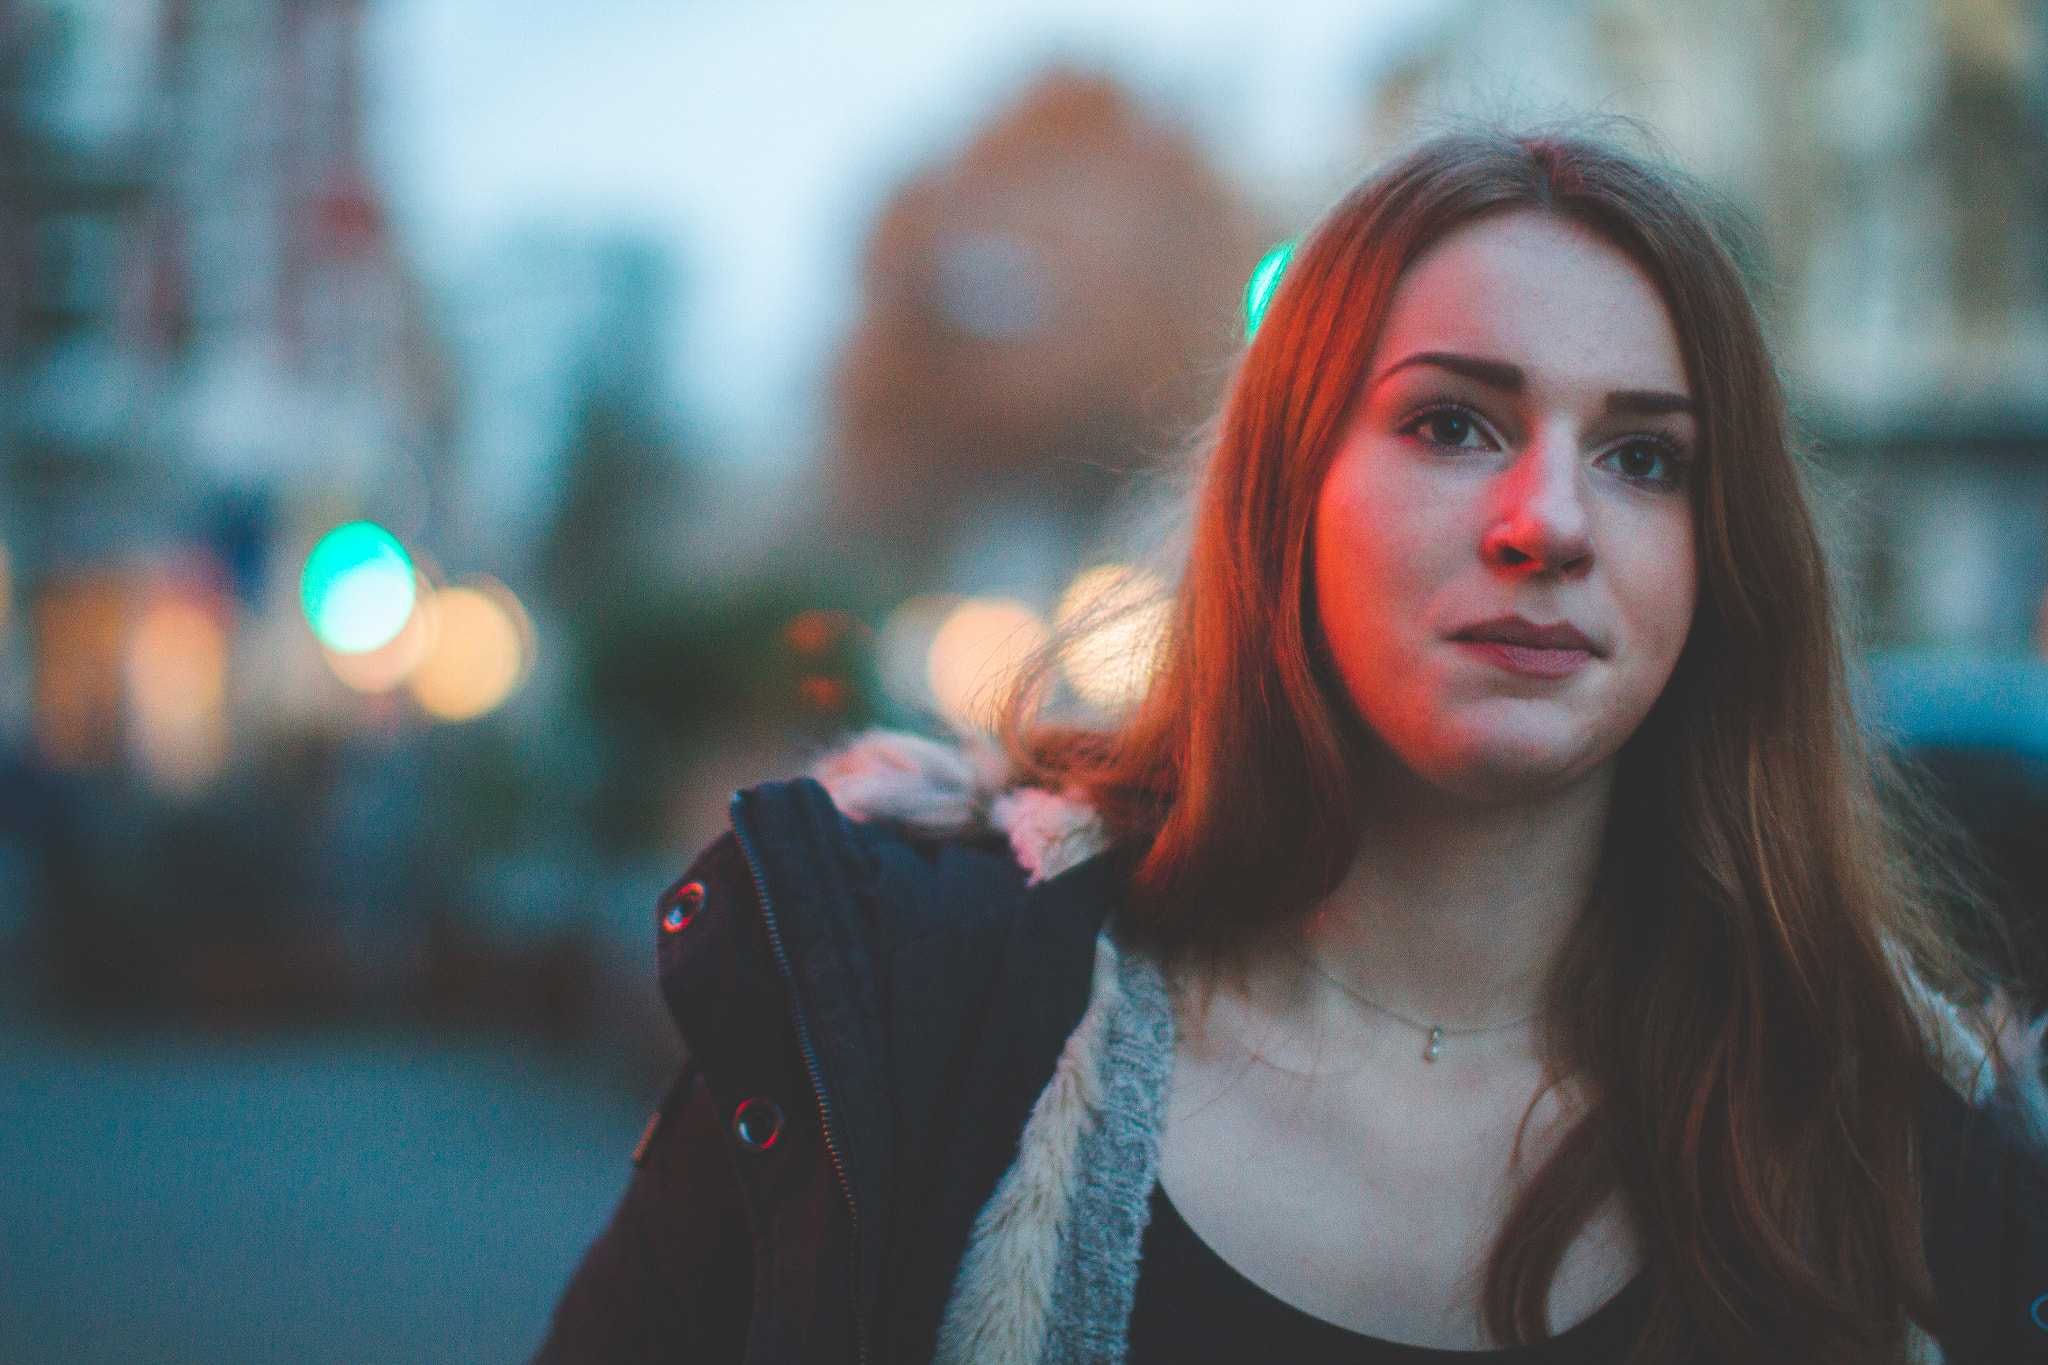
<svg viewBox="0 0 2048 1365">
<path fill-rule="evenodd" d="M 1120 1001 L 1116 950 L 1104 935 L 1096 939 L 1087 1013 L 1032 1105 L 1016 1162 L 975 1218 L 938 1330 L 936 1365 L 1036 1365 L 1044 1353 L 1075 1158 L 1102 1103 L 1102 1048 Z"/>
</svg>

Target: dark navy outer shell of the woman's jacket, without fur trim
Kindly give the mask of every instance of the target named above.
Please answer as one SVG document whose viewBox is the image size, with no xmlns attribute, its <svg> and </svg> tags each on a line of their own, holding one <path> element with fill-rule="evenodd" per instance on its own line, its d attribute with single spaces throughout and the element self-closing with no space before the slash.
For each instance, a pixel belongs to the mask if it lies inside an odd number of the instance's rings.
<svg viewBox="0 0 2048 1365">
<path fill-rule="evenodd" d="M 655 909 L 690 1060 L 537 1359 L 930 1361 L 1124 870 L 1026 886 L 1001 841 L 856 825 L 809 780 L 735 796 L 733 833 Z M 2048 1169 L 1935 1089 L 1948 1363 L 2048 1363 Z"/>
</svg>

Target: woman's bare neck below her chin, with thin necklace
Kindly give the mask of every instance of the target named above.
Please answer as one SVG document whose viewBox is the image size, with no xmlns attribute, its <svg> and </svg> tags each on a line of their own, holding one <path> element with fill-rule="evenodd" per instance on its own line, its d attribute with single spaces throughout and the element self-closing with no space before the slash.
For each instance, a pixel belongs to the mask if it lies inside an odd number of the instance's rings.
<svg viewBox="0 0 2048 1365">
<path fill-rule="evenodd" d="M 1309 956 L 1354 995 L 1450 1031 L 1538 1015 L 1599 866 L 1612 765 L 1516 804 L 1458 802 L 1419 780 L 1374 788 Z"/>
</svg>

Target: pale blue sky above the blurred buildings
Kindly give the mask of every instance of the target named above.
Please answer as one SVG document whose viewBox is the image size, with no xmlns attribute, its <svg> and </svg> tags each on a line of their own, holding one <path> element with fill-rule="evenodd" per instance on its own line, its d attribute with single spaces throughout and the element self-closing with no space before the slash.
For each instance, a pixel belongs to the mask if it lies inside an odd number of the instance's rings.
<svg viewBox="0 0 2048 1365">
<path fill-rule="evenodd" d="M 373 0 L 371 151 L 461 287 L 502 233 L 676 254 L 682 397 L 733 454 L 799 454 L 866 225 L 1057 59 L 1110 70 L 1307 215 L 1358 170 L 1370 78 L 1444 0 Z"/>
</svg>

